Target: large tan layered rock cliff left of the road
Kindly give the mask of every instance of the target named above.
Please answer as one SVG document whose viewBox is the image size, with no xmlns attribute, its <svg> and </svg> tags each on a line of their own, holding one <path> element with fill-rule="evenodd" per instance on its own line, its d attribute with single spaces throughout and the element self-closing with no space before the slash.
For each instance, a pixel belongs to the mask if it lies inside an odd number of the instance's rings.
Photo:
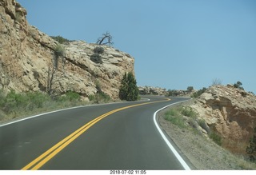
<svg viewBox="0 0 256 175">
<path fill-rule="evenodd" d="M 17 92 L 46 91 L 54 50 L 58 42 L 26 21 L 26 10 L 14 0 L 0 0 L 0 88 Z M 90 58 L 98 45 L 82 41 L 62 47 L 52 89 L 75 91 L 84 97 L 102 92 L 118 97 L 123 74 L 134 73 L 134 58 L 110 46 L 101 46 L 101 63 Z"/>
</svg>

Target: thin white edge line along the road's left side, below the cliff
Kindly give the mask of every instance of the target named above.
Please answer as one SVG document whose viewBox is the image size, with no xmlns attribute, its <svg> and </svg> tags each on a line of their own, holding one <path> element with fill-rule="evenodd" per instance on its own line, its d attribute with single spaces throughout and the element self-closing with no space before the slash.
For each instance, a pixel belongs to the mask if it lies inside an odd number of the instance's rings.
<svg viewBox="0 0 256 175">
<path fill-rule="evenodd" d="M 145 100 L 142 100 L 142 101 L 150 101 L 149 98 L 144 98 Z M 129 103 L 129 102 L 134 102 L 134 101 L 125 101 L 125 103 Z M 137 102 L 137 101 L 135 101 Z M 60 112 L 60 111 L 63 111 L 63 110 L 69 110 L 69 109 L 76 109 L 76 108 L 84 108 L 84 107 L 91 107 L 91 106 L 97 106 L 97 105 L 112 105 L 112 104 L 118 104 L 118 103 L 124 103 L 124 102 L 112 102 L 112 103 L 104 103 L 104 104 L 96 104 L 96 105 L 79 105 L 79 106 L 74 106 L 74 107 L 70 107 L 70 108 L 66 108 L 66 109 L 58 109 L 58 110 L 53 110 L 53 111 L 50 111 L 50 112 L 46 112 L 46 113 L 39 113 L 37 115 L 34 115 L 34 116 L 31 116 L 31 117 L 24 117 L 22 119 L 18 119 L 17 121 L 10 121 L 10 122 L 7 122 L 5 124 L 0 124 L 0 127 L 2 126 L 5 126 L 5 125 L 11 125 L 13 123 L 17 123 L 19 121 L 26 121 L 30 118 L 34 118 L 34 117 L 40 117 L 42 115 L 46 115 L 46 114 L 49 114 L 49 113 L 57 113 L 57 112 Z"/>
</svg>

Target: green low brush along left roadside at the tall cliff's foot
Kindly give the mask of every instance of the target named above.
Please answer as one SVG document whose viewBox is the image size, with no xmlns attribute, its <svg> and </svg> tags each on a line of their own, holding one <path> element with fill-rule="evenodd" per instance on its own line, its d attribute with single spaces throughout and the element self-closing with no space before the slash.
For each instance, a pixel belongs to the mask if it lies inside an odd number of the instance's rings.
<svg viewBox="0 0 256 175">
<path fill-rule="evenodd" d="M 71 91 L 51 97 L 42 92 L 16 93 L 11 90 L 5 94 L 0 90 L 0 96 L 0 120 L 84 104 L 80 95 Z"/>
</svg>

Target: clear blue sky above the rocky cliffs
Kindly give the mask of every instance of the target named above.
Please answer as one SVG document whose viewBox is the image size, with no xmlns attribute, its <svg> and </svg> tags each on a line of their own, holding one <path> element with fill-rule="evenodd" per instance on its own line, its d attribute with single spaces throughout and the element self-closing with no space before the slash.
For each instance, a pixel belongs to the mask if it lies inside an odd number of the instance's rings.
<svg viewBox="0 0 256 175">
<path fill-rule="evenodd" d="M 96 42 L 135 58 L 138 86 L 202 89 L 214 78 L 256 93 L 254 0 L 18 0 L 50 36 Z"/>
</svg>

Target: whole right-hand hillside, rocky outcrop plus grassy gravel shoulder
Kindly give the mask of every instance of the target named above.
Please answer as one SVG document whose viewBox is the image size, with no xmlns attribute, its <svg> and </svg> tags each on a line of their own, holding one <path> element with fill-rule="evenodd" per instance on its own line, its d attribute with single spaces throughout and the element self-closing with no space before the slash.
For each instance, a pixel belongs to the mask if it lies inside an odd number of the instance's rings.
<svg viewBox="0 0 256 175">
<path fill-rule="evenodd" d="M 246 153 L 255 137 L 253 93 L 232 85 L 210 86 L 198 98 L 163 109 L 159 116 L 191 169 L 256 169 Z"/>
</svg>

